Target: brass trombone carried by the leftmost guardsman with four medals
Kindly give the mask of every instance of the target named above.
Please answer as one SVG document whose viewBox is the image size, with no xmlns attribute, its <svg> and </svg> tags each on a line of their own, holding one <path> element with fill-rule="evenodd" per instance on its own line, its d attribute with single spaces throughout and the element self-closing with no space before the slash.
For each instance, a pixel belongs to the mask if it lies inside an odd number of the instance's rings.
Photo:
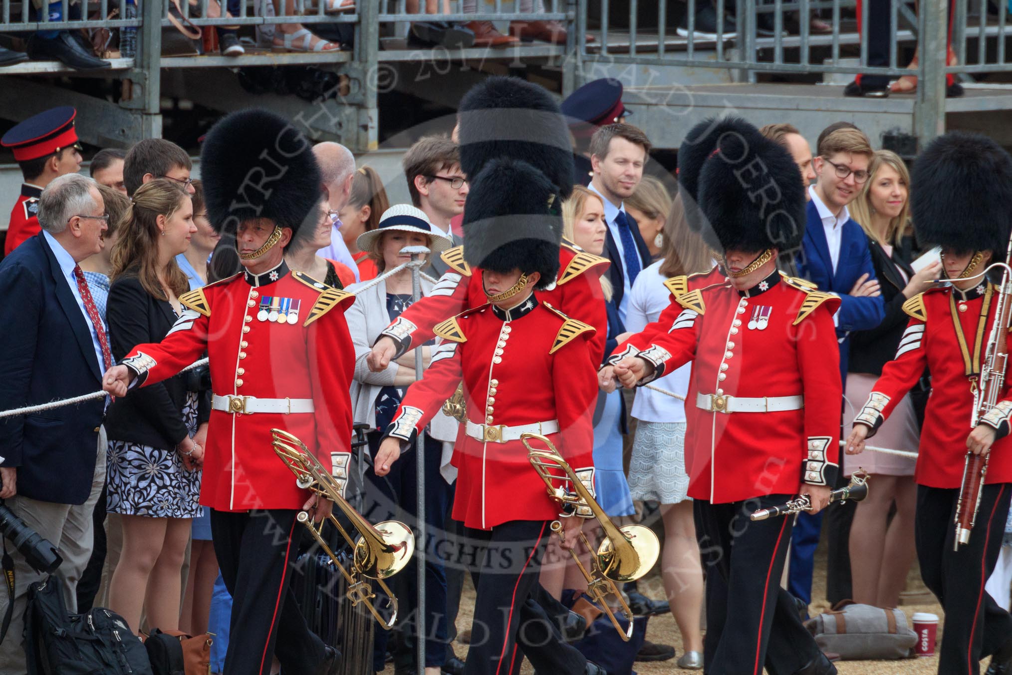
<svg viewBox="0 0 1012 675">
<path fill-rule="evenodd" d="M 358 537 L 357 541 L 354 541 L 333 514 L 327 517 L 352 547 L 353 556 L 349 571 L 341 565 L 337 556 L 323 538 L 323 525 L 326 521 L 314 523 L 306 511 L 301 511 L 297 516 L 299 522 L 310 530 L 313 538 L 330 556 L 331 562 L 344 575 L 345 581 L 348 582 L 348 591 L 345 595 L 351 601 L 351 605 L 355 606 L 359 602 L 364 602 L 380 622 L 381 627 L 390 630 L 397 621 L 397 596 L 390 590 L 384 579 L 393 577 L 404 569 L 404 566 L 411 560 L 412 554 L 415 553 L 415 535 L 411 528 L 397 520 L 385 520 L 372 526 L 341 496 L 341 487 L 338 482 L 323 468 L 320 460 L 309 451 L 303 441 L 281 429 L 271 429 L 270 433 L 273 438 L 271 445 L 274 446 L 274 452 L 296 475 L 296 484 L 304 490 L 312 490 L 320 497 L 334 502 L 334 505 L 341 509 L 351 521 L 352 527 L 358 530 L 361 536 Z M 388 608 L 391 610 L 389 620 L 384 618 L 372 604 L 375 593 L 372 592 L 369 583 L 361 577 L 375 580 L 387 593 L 387 597 L 390 598 Z"/>
</svg>

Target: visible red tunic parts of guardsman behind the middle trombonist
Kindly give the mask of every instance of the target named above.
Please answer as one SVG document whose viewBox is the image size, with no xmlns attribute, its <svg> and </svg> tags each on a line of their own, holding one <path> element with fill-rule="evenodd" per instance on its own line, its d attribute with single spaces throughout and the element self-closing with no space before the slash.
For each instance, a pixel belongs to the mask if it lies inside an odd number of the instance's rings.
<svg viewBox="0 0 1012 675">
<path fill-rule="evenodd" d="M 432 287 L 432 293 L 402 313 L 383 335 L 394 338 L 401 350 L 432 339 L 433 327 L 465 310 L 484 305 L 481 269 L 472 269 L 463 261 L 463 247 L 456 246 L 442 254 L 449 269 Z M 537 290 L 538 300 L 551 304 L 569 316 L 594 328 L 590 355 L 594 363 L 604 356 L 604 340 L 608 334 L 608 317 L 601 294 L 600 277 L 610 264 L 606 258 L 587 253 L 569 242 L 559 249 L 559 278 L 546 290 Z M 461 283 L 467 279 L 466 282 Z"/>
</svg>

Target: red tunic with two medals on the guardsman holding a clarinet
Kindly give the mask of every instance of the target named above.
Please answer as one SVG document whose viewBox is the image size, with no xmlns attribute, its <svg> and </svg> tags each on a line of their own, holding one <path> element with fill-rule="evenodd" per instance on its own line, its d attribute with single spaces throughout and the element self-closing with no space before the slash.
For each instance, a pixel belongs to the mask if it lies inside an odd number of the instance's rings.
<svg viewBox="0 0 1012 675">
<path fill-rule="evenodd" d="M 748 291 L 725 282 L 675 302 L 673 323 L 647 326 L 609 360 L 638 355 L 654 364 L 642 384 L 693 362 L 689 496 L 724 503 L 831 485 L 843 397 L 839 300 L 774 272 Z"/>
</svg>

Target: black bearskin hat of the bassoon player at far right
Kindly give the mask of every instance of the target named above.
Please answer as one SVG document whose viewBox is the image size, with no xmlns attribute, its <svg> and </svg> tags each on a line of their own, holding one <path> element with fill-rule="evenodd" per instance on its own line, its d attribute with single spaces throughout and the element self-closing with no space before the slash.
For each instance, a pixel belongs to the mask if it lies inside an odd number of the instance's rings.
<svg viewBox="0 0 1012 675">
<path fill-rule="evenodd" d="M 1004 260 L 1012 228 L 1012 158 L 986 136 L 949 132 L 917 158 L 910 206 L 918 241 Z"/>
</svg>

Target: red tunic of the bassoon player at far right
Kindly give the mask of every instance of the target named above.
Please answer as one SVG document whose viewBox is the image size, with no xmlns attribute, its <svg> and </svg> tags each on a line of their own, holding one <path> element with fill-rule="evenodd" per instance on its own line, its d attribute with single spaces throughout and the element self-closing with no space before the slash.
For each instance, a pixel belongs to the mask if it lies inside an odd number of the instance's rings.
<svg viewBox="0 0 1012 675">
<path fill-rule="evenodd" d="M 871 436 L 927 366 L 931 397 L 914 476 L 919 485 L 958 488 L 962 484 L 966 436 L 973 431 L 974 391 L 995 321 L 996 300 L 991 284 L 965 292 L 954 287 L 936 288 L 908 300 L 903 309 L 911 320 L 896 358 L 882 368 L 854 420 L 870 426 Z M 1012 483 L 1012 439 L 1006 436 L 1010 415 L 1012 401 L 1006 379 L 1001 401 L 981 419 L 999 430 L 988 459 L 988 484 Z"/>
</svg>

